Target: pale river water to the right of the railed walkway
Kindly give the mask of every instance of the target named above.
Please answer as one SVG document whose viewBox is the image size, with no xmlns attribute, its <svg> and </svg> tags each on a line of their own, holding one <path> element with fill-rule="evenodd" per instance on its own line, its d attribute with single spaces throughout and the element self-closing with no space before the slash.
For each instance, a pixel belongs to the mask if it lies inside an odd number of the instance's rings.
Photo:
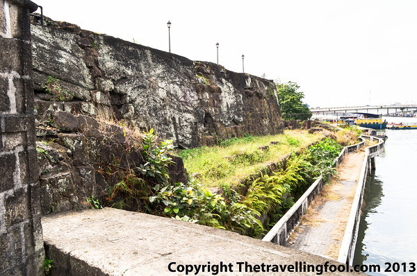
<svg viewBox="0 0 417 276">
<path fill-rule="evenodd" d="M 383 119 L 417 125 L 417 118 Z M 385 134 L 384 153 L 375 157 L 376 170 L 366 182 L 354 256 L 354 264 L 378 264 L 382 270 L 386 262 L 417 264 L 417 129 L 385 130 Z"/>
</svg>

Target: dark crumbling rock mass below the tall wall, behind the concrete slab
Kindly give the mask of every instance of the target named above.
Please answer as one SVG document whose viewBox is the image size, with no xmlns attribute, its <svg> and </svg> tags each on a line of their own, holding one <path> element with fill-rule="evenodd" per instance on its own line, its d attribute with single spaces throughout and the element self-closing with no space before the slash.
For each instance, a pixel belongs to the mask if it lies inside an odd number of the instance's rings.
<svg viewBox="0 0 417 276">
<path fill-rule="evenodd" d="M 51 114 L 51 121 L 53 126 L 38 123 L 36 129 L 43 215 L 88 208 L 92 196 L 104 202 L 128 169 L 145 163 L 139 139 L 122 126 L 63 111 Z M 182 159 L 172 158 L 170 181 L 187 182 Z"/>
</svg>

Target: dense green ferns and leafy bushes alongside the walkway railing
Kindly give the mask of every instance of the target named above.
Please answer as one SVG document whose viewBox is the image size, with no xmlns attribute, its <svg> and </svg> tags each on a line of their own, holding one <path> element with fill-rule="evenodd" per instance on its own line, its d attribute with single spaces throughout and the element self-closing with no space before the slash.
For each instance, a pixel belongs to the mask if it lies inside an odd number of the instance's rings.
<svg viewBox="0 0 417 276">
<path fill-rule="evenodd" d="M 281 136 L 288 141 L 286 135 Z M 239 141 L 234 140 L 230 144 L 231 146 L 227 148 L 233 148 L 239 144 Z M 241 146 L 243 145 L 240 144 Z M 222 146 L 219 147 L 222 148 Z M 302 150 L 300 155 L 293 153 L 286 165 L 271 175 L 263 174 L 253 179 L 245 195 L 238 194 L 231 189 L 231 185 L 227 184 L 223 185 L 222 195 L 215 195 L 192 181 L 187 184 L 157 185 L 154 187 L 156 195 L 150 196 L 149 202 L 152 202 L 157 213 L 163 216 L 256 237 L 263 234 L 285 214 L 294 204 L 294 197 L 300 196 L 308 189 L 321 173 L 330 175 L 335 172 L 325 166 L 333 165 L 334 158 L 338 156 L 340 149 L 341 146 L 338 146 L 335 141 L 325 139 Z M 201 154 L 201 149 L 197 151 Z M 188 157 L 193 156 L 191 150 L 185 150 L 182 154 Z M 267 152 L 264 152 L 264 155 L 267 155 Z M 253 155 L 249 156 L 243 158 L 246 164 L 250 164 L 248 160 L 254 158 Z M 231 159 L 230 162 L 234 160 L 236 159 Z M 211 167 L 214 177 L 224 175 L 223 169 L 224 167 L 213 170 Z M 267 214 L 268 217 L 263 224 L 259 221 L 262 214 Z"/>
</svg>

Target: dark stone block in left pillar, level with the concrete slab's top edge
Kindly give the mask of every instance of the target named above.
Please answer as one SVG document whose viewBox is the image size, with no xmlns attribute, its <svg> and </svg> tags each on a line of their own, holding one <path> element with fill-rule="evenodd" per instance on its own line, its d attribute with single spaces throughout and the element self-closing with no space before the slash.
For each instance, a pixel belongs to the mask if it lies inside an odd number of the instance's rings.
<svg viewBox="0 0 417 276">
<path fill-rule="evenodd" d="M 11 195 L 6 195 L 4 202 L 6 227 L 11 227 L 31 217 L 31 205 L 27 187 L 17 189 Z"/>
</svg>

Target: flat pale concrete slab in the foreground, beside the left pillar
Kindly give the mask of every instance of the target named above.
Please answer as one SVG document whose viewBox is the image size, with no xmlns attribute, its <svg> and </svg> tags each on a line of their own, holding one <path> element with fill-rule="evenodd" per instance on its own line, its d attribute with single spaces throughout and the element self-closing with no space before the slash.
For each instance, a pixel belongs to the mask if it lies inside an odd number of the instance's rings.
<svg viewBox="0 0 417 276">
<path fill-rule="evenodd" d="M 300 270 L 344 266 L 233 232 L 112 208 L 47 216 L 42 227 L 56 266 L 51 275 L 318 275 Z"/>
</svg>

